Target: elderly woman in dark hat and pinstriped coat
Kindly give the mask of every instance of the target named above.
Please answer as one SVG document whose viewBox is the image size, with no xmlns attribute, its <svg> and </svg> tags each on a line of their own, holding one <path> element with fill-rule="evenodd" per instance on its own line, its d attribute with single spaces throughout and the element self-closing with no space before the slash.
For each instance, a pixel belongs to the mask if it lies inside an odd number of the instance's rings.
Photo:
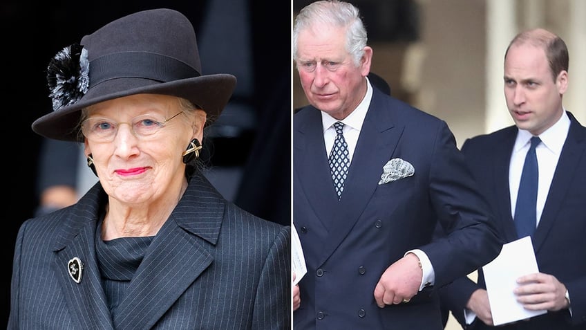
<svg viewBox="0 0 586 330">
<path fill-rule="evenodd" d="M 189 20 L 117 19 L 59 52 L 48 82 L 54 111 L 32 129 L 82 141 L 99 183 L 21 226 L 8 329 L 290 327 L 290 227 L 225 201 L 198 169 L 236 79 L 201 75 Z"/>
</svg>

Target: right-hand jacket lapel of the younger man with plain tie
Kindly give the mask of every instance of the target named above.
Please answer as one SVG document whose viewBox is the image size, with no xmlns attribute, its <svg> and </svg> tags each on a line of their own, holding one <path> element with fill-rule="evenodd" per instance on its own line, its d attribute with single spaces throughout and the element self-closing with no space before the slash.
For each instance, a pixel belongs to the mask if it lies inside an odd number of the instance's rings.
<svg viewBox="0 0 586 330">
<path fill-rule="evenodd" d="M 568 136 L 564 143 L 560 159 L 556 167 L 554 179 L 551 181 L 551 187 L 547 194 L 547 201 L 541 214 L 539 224 L 533 234 L 533 248 L 536 253 L 540 249 L 547 237 L 547 233 L 556 221 L 558 210 L 565 201 L 568 194 L 568 187 L 571 186 L 572 180 L 580 170 L 580 158 L 583 157 L 586 149 L 586 131 L 576 118 L 567 112 L 570 118 L 570 127 Z"/>
</svg>

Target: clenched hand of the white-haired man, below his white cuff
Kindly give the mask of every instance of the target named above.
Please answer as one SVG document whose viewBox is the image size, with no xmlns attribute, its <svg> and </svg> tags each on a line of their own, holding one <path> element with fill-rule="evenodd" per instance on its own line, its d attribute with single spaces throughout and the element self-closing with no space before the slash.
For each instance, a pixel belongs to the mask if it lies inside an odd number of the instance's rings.
<svg viewBox="0 0 586 330">
<path fill-rule="evenodd" d="M 386 268 L 375 287 L 377 305 L 383 308 L 385 305 L 408 302 L 419 292 L 422 276 L 417 255 L 408 253 L 397 260 Z"/>
</svg>

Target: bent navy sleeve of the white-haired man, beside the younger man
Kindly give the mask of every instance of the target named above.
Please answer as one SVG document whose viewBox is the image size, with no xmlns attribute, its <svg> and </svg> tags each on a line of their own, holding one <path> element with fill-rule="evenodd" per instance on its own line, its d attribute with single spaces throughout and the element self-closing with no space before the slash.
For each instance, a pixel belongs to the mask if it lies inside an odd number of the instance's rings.
<svg viewBox="0 0 586 330">
<path fill-rule="evenodd" d="M 431 152 L 430 199 L 446 235 L 422 250 L 431 260 L 439 288 L 490 262 L 502 243 L 489 205 L 443 121 Z"/>
</svg>

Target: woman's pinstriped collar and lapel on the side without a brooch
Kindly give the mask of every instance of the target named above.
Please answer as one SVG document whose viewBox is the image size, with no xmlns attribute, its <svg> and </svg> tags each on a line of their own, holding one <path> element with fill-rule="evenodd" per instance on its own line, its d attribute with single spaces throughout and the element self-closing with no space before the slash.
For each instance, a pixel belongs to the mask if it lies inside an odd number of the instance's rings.
<svg viewBox="0 0 586 330">
<path fill-rule="evenodd" d="M 199 174 L 191 179 L 151 246 L 114 315 L 116 329 L 150 329 L 213 262 L 225 203 Z M 197 296 L 197 293 L 195 294 Z"/>
</svg>

